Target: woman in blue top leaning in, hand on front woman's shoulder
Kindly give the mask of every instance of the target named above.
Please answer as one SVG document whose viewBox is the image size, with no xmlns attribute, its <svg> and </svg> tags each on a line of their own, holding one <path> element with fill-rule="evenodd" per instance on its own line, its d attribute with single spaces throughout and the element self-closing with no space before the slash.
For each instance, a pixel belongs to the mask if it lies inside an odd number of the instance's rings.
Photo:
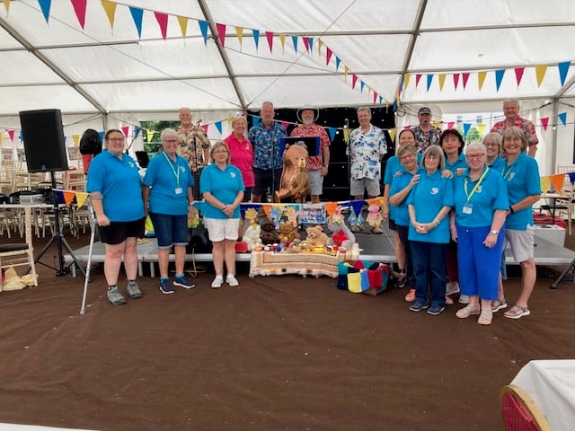
<svg viewBox="0 0 575 431">
<path fill-rule="evenodd" d="M 405 271 L 410 285 L 410 291 L 405 295 L 405 301 L 408 303 L 415 301 L 413 261 L 408 240 L 410 216 L 407 209 L 407 198 L 411 193 L 411 189 L 420 180 L 416 151 L 415 146 L 411 144 L 400 146 L 399 150 L 397 150 L 397 158 L 402 164 L 394 172 L 392 185 L 389 190 L 389 203 L 394 208 L 395 213 L 395 229 L 405 251 Z"/>
</svg>

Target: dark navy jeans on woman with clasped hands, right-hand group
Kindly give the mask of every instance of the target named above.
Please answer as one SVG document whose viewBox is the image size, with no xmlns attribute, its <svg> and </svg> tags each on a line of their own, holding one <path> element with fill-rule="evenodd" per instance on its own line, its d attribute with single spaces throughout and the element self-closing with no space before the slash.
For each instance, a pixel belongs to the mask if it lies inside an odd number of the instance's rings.
<svg viewBox="0 0 575 431">
<path fill-rule="evenodd" d="M 446 304 L 447 243 L 411 241 L 415 300 L 431 304 Z"/>
</svg>

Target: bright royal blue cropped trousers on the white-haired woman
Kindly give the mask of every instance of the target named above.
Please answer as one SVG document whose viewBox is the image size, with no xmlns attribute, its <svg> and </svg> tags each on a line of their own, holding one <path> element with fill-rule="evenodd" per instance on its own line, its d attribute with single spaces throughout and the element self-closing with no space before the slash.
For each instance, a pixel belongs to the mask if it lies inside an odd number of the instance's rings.
<svg viewBox="0 0 575 431">
<path fill-rule="evenodd" d="M 483 241 L 491 227 L 462 227 L 457 224 L 457 258 L 459 260 L 459 286 L 463 295 L 479 295 L 481 299 L 498 298 L 501 251 L 505 231 L 501 229 L 493 248 Z"/>
</svg>

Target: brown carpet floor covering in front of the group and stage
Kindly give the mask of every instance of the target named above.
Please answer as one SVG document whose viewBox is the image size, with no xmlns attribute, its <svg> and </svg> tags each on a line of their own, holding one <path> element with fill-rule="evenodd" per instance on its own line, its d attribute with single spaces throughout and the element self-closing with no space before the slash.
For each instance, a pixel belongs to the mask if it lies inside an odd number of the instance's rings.
<svg viewBox="0 0 575 431">
<path fill-rule="evenodd" d="M 88 242 L 66 238 L 73 248 Z M 55 251 L 43 260 L 52 263 Z M 249 278 L 245 266 L 238 287 L 211 289 L 209 267 L 196 288 L 175 295 L 143 277 L 145 296 L 119 307 L 108 303 L 102 269 L 94 269 L 82 316 L 84 278 L 39 271 L 40 286 L 0 294 L 0 422 L 498 430 L 501 386 L 532 359 L 575 351 L 575 287 L 565 281 L 550 290 L 546 269 L 532 314 L 512 321 L 499 312 L 490 327 L 457 319 L 458 305 L 438 316 L 409 312 L 398 288 L 354 295 L 332 278 Z M 506 287 L 513 303 L 518 280 Z"/>
</svg>

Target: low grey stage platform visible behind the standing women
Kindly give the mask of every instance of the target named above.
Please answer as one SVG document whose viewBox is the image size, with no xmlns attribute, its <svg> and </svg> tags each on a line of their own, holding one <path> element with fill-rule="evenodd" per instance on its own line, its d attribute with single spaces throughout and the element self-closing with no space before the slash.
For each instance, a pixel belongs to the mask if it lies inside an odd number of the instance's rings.
<svg viewBox="0 0 575 431">
<path fill-rule="evenodd" d="M 359 258 L 374 262 L 393 263 L 395 262 L 394 233 L 387 227 L 383 235 L 372 233 L 356 233 L 359 244 Z M 80 262 L 88 260 L 89 246 L 75 250 L 75 256 Z M 173 254 L 170 255 L 170 261 L 173 261 Z M 211 253 L 187 254 L 186 262 L 194 259 L 197 262 L 208 262 L 212 260 Z M 236 260 L 249 262 L 251 253 L 237 253 Z M 544 238 L 535 235 L 535 264 L 543 266 L 567 267 L 575 259 L 575 251 L 566 249 L 556 243 L 549 242 Z M 72 256 L 66 254 L 64 260 L 67 264 L 73 262 Z M 92 262 L 102 263 L 104 261 L 104 245 L 102 242 L 94 242 L 92 251 Z M 151 277 L 155 277 L 155 264 L 158 261 L 157 242 L 155 238 L 147 238 L 144 242 L 137 245 L 138 273 L 142 277 L 144 266 L 149 266 Z M 508 265 L 518 265 L 513 259 L 509 247 L 506 251 L 506 262 Z M 76 268 L 72 265 L 72 275 L 75 277 Z"/>
</svg>

